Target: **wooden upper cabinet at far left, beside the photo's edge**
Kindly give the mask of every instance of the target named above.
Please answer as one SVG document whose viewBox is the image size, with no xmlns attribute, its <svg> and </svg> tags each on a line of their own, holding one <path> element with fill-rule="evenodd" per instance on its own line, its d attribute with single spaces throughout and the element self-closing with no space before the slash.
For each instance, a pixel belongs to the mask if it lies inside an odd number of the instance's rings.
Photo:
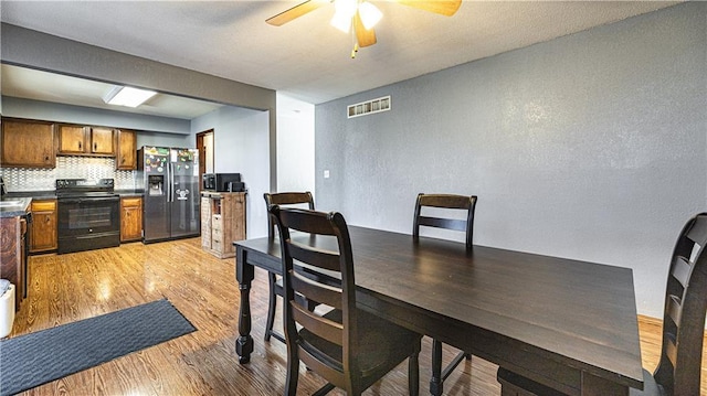
<svg viewBox="0 0 707 396">
<path fill-rule="evenodd" d="M 52 122 L 2 119 L 3 167 L 55 168 L 56 147 Z"/>
</svg>

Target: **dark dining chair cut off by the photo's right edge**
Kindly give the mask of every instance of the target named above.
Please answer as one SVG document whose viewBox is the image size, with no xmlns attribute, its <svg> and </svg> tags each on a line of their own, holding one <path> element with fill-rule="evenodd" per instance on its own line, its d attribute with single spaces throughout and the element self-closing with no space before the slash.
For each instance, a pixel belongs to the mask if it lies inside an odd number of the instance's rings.
<svg viewBox="0 0 707 396">
<path fill-rule="evenodd" d="M 690 218 L 680 232 L 665 290 L 661 360 L 653 374 L 643 371 L 643 390 L 630 395 L 699 395 L 705 314 L 707 312 L 707 213 Z M 502 395 L 559 395 L 544 384 L 498 368 Z"/>
</svg>

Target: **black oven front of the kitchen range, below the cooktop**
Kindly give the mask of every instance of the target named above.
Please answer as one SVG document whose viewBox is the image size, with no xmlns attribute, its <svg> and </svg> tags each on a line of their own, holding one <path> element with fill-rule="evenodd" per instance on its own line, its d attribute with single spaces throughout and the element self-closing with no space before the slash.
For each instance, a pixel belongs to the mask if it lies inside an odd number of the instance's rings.
<svg viewBox="0 0 707 396">
<path fill-rule="evenodd" d="M 120 197 L 61 197 L 60 254 L 120 245 Z"/>
</svg>

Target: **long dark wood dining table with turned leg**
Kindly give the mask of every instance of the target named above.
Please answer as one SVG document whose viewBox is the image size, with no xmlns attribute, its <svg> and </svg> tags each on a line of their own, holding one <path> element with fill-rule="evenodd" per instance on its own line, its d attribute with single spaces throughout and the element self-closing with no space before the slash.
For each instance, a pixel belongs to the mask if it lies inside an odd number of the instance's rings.
<svg viewBox="0 0 707 396">
<path fill-rule="evenodd" d="M 629 268 L 349 226 L 357 303 L 568 395 L 643 388 Z M 307 236 L 295 235 L 302 243 Z M 240 240 L 241 363 L 253 352 L 254 267 L 282 274 L 277 238 Z M 330 247 L 330 246 L 329 246 Z"/>
</svg>

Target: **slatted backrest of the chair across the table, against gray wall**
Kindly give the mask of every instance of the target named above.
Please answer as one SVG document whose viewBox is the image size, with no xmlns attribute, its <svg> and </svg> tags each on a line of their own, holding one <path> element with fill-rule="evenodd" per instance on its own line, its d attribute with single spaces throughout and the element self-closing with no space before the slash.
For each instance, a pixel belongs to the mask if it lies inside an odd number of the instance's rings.
<svg viewBox="0 0 707 396">
<path fill-rule="evenodd" d="M 418 194 L 412 224 L 413 238 L 416 240 L 420 237 L 421 226 L 464 232 L 466 236 L 466 249 L 471 250 L 474 242 L 474 212 L 476 210 L 476 195 Z M 446 214 L 433 216 L 423 214 L 423 207 L 464 211 L 465 216 L 464 218 L 451 218 Z"/>
</svg>

